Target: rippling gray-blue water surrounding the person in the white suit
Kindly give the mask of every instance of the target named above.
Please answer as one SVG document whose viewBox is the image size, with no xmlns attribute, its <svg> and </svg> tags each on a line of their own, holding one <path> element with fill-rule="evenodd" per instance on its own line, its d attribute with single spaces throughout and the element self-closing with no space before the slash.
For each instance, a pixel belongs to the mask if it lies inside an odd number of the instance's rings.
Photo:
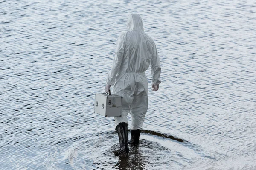
<svg viewBox="0 0 256 170">
<path fill-rule="evenodd" d="M 140 144 L 115 156 L 94 94 L 129 13 L 155 40 L 162 84 Z M 255 42 L 254 0 L 1 0 L 0 169 L 256 169 Z"/>
</svg>

